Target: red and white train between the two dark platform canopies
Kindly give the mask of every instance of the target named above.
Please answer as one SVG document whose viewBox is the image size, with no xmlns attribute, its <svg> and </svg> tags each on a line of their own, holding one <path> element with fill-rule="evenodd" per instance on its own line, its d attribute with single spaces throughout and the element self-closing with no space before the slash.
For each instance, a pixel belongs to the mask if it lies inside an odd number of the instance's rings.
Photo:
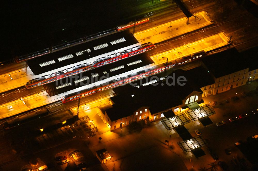
<svg viewBox="0 0 258 171">
<path fill-rule="evenodd" d="M 124 50 L 124 51 L 119 52 L 119 53 L 114 53 L 114 54 L 105 56 L 103 58 L 95 59 L 91 65 L 88 64 L 88 63 L 84 63 L 84 64 L 76 65 L 76 66 L 68 68 L 68 69 L 64 69 L 62 71 L 55 72 L 53 74 L 49 74 L 49 75 L 45 75 L 43 77 L 39 77 L 39 78 L 36 78 L 36 79 L 33 79 L 33 80 L 29 80 L 26 83 L 25 87 L 26 88 L 32 88 L 32 87 L 35 87 L 35 86 L 47 84 L 49 82 L 65 78 L 65 77 L 68 77 L 70 75 L 78 74 L 80 72 L 84 72 L 84 71 L 90 70 L 92 68 L 100 67 L 100 66 L 105 65 L 105 64 L 116 62 L 118 60 L 125 59 L 125 58 L 128 58 L 130 56 L 146 52 L 148 50 L 153 49 L 154 46 L 155 45 L 152 44 L 151 42 L 144 43 L 144 44 L 135 46 L 133 48 Z"/>
</svg>

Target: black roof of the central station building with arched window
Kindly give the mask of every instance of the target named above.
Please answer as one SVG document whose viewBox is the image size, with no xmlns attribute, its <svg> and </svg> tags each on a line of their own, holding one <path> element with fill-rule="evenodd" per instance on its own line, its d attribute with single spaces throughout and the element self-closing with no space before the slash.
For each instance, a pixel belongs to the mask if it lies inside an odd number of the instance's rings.
<svg viewBox="0 0 258 171">
<path fill-rule="evenodd" d="M 176 80 L 180 76 L 186 76 L 186 72 L 188 71 L 176 70 L 169 74 L 169 76 L 174 74 Z M 164 74 L 160 73 L 155 76 L 162 77 Z M 151 78 L 153 76 L 148 77 L 148 80 Z M 158 82 L 156 86 L 150 84 L 136 88 L 126 84 L 125 86 L 117 87 L 113 89 L 117 96 L 111 97 L 111 100 L 114 102 L 113 108 L 106 110 L 106 112 L 111 121 L 130 116 L 134 111 L 143 106 L 148 106 L 150 112 L 154 114 L 181 105 L 182 100 L 193 91 L 202 93 L 191 82 L 187 81 L 185 83 L 184 86 L 179 86 L 178 84 L 169 86 L 165 82 Z"/>
</svg>

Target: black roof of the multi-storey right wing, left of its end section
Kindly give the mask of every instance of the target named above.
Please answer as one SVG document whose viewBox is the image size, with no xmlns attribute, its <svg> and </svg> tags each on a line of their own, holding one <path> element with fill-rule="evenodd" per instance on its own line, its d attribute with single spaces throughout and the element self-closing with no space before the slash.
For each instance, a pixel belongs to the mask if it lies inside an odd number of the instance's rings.
<svg viewBox="0 0 258 171">
<path fill-rule="evenodd" d="M 231 48 L 203 59 L 204 65 L 207 67 L 215 78 L 223 77 L 239 70 L 248 68 L 249 65 L 246 63 L 246 59 L 240 54 L 236 48 Z"/>
</svg>

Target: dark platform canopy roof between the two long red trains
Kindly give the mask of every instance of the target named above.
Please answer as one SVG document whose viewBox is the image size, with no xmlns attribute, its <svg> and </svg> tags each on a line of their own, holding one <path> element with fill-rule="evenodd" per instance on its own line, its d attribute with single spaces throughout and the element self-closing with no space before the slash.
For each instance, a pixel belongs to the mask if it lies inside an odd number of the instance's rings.
<svg viewBox="0 0 258 171">
<path fill-rule="evenodd" d="M 138 62 L 136 62 L 136 61 L 138 61 Z M 146 65 L 149 65 L 152 63 L 154 63 L 154 62 L 150 59 L 150 57 L 147 55 L 147 53 L 141 53 L 138 55 L 131 56 L 130 58 L 119 60 L 114 63 L 106 64 L 104 66 L 101 66 L 101 67 L 98 67 L 98 68 L 95 68 L 95 69 L 92 69 L 89 71 L 85 71 L 83 73 L 75 74 L 73 76 L 66 77 L 66 78 L 60 79 L 58 81 L 45 84 L 44 89 L 49 94 L 49 96 L 55 96 L 55 95 L 58 95 L 58 94 L 61 94 L 61 93 L 67 92 L 67 91 L 71 91 L 71 90 L 74 90 L 74 89 L 84 86 L 84 85 L 80 85 L 80 83 L 78 83 L 78 85 L 75 85 L 74 81 L 76 81 L 76 80 L 88 77 L 89 79 L 85 79 L 84 81 L 82 81 L 82 83 L 87 83 L 87 85 L 104 80 L 104 78 L 107 78 L 107 77 L 110 78 L 111 80 L 114 80 L 114 79 L 116 79 L 116 77 L 115 78 L 111 78 L 111 77 L 126 73 L 126 72 L 134 70 L 134 69 L 141 68 L 143 66 L 146 66 Z M 127 65 L 127 64 L 129 64 L 129 65 Z M 112 72 L 110 70 L 112 70 Z M 98 74 L 98 76 L 93 77 L 93 75 L 95 75 L 95 74 Z M 131 73 L 128 73 L 128 74 L 131 74 Z M 75 77 L 77 77 L 77 79 Z M 104 80 L 103 82 L 107 82 L 107 81 Z M 96 83 L 96 85 L 98 85 L 98 83 Z M 69 94 L 71 94 L 71 93 L 69 93 Z"/>
</svg>

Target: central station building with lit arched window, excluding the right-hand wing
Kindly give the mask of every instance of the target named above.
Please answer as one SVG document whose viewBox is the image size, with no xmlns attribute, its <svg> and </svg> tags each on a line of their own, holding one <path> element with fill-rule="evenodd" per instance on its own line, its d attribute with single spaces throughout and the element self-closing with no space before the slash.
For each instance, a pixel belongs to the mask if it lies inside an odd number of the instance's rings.
<svg viewBox="0 0 258 171">
<path fill-rule="evenodd" d="M 203 92 L 197 88 L 198 85 L 194 80 L 189 78 L 188 72 L 176 70 L 168 75 L 174 74 L 176 79 L 184 76 L 187 81 L 183 86 L 178 84 L 170 86 L 165 82 L 158 82 L 156 86 L 136 88 L 127 84 L 115 88 L 114 92 L 117 96 L 110 98 L 113 108 L 105 111 L 110 118 L 111 130 L 141 120 L 156 121 L 163 117 L 171 117 L 202 103 Z M 199 76 L 196 75 L 196 77 Z M 210 76 L 208 80 L 211 80 Z"/>
</svg>

